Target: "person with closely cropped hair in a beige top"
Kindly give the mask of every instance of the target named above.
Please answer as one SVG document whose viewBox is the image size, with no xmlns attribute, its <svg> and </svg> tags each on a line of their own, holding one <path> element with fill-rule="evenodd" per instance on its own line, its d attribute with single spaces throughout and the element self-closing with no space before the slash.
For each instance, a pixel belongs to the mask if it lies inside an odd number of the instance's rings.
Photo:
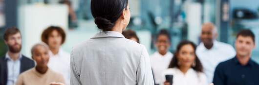
<svg viewBox="0 0 259 85">
<path fill-rule="evenodd" d="M 49 61 L 48 46 L 45 43 L 38 43 L 31 49 L 32 59 L 36 67 L 31 68 L 19 75 L 16 85 L 49 85 L 52 82 L 65 83 L 61 74 L 54 72 L 47 67 Z"/>
</svg>

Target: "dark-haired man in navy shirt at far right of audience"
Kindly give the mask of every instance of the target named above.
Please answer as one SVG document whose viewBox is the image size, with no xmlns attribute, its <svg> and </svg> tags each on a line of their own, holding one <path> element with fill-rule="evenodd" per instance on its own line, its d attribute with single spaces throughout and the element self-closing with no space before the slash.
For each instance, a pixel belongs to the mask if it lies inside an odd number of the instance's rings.
<svg viewBox="0 0 259 85">
<path fill-rule="evenodd" d="M 259 85 L 259 65 L 251 59 L 255 35 L 250 30 L 237 34 L 236 57 L 218 64 L 214 85 Z"/>
</svg>

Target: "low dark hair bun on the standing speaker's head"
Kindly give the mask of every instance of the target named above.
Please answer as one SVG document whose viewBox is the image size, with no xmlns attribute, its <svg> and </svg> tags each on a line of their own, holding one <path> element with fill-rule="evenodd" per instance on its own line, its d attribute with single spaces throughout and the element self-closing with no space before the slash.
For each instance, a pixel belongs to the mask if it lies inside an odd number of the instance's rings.
<svg viewBox="0 0 259 85">
<path fill-rule="evenodd" d="M 114 23 L 103 17 L 95 17 L 94 23 L 97 25 L 99 29 L 104 31 L 111 30 L 114 26 Z"/>
</svg>

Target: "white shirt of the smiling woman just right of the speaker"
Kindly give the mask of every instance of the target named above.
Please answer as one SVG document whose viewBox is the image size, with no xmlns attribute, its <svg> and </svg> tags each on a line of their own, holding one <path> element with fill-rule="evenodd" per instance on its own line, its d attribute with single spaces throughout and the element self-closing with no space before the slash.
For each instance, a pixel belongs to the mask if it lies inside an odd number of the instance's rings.
<svg viewBox="0 0 259 85">
<path fill-rule="evenodd" d="M 161 74 L 168 68 L 172 58 L 173 53 L 170 51 L 168 51 L 165 55 L 161 55 L 158 51 L 151 55 L 151 68 L 153 70 L 155 84 L 160 84 L 163 82 L 161 81 Z"/>
</svg>

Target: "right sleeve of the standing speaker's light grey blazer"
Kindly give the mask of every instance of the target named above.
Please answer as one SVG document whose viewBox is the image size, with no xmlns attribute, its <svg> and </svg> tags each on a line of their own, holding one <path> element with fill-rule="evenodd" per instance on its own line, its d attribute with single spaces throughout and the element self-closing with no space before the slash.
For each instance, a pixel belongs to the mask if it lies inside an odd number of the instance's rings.
<svg viewBox="0 0 259 85">
<path fill-rule="evenodd" d="M 148 51 L 143 46 L 137 69 L 137 85 L 154 85 Z"/>
</svg>

